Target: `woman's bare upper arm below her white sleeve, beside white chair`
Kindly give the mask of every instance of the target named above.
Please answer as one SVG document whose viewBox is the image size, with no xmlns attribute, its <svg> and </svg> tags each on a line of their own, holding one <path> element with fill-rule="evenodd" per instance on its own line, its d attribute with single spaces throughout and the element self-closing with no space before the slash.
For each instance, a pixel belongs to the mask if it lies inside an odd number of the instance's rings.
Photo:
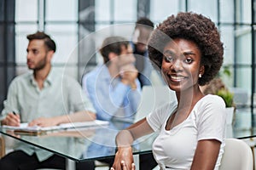
<svg viewBox="0 0 256 170">
<path fill-rule="evenodd" d="M 191 170 L 212 170 L 218 159 L 220 142 L 216 139 L 198 141 Z"/>
</svg>

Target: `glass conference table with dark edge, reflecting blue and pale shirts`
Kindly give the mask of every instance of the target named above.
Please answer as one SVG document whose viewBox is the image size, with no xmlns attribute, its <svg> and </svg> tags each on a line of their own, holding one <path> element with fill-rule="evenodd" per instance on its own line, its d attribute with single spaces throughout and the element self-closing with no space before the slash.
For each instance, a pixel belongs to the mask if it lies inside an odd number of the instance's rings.
<svg viewBox="0 0 256 170">
<path fill-rule="evenodd" d="M 29 144 L 35 149 L 47 150 L 67 159 L 67 170 L 75 169 L 75 162 L 100 161 L 114 156 L 115 136 L 120 129 L 130 126 L 128 122 L 110 122 L 108 126 L 77 128 L 67 131 L 28 135 L 14 133 L 0 128 L 6 145 Z M 151 152 L 151 144 L 156 133 L 138 139 L 133 144 L 135 163 L 138 169 L 139 154 Z M 256 137 L 256 128 L 236 128 L 227 126 L 227 138 L 249 139 Z"/>
</svg>

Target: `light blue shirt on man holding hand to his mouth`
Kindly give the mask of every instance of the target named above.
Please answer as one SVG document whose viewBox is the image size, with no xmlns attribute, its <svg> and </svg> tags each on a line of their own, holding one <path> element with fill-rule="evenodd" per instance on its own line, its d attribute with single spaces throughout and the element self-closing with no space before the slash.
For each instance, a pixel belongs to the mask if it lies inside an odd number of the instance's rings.
<svg viewBox="0 0 256 170">
<path fill-rule="evenodd" d="M 96 109 L 100 120 L 134 119 L 141 100 L 140 82 L 137 89 L 121 82 L 120 78 L 110 76 L 106 65 L 97 66 L 83 77 L 83 89 Z"/>
</svg>

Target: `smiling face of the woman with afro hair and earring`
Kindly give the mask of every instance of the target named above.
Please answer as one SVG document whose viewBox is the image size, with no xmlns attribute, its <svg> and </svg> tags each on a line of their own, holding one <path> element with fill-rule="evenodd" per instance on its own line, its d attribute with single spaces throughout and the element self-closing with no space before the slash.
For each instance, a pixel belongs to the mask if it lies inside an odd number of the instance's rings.
<svg viewBox="0 0 256 170">
<path fill-rule="evenodd" d="M 180 92 L 198 86 L 204 71 L 200 64 L 201 51 L 195 42 L 176 38 L 164 48 L 161 71 L 169 88 Z"/>
</svg>

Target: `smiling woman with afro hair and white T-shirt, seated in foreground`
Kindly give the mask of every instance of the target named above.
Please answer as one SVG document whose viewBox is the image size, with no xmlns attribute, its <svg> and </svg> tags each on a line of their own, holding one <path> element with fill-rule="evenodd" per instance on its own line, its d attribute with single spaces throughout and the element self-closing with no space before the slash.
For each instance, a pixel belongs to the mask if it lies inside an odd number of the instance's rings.
<svg viewBox="0 0 256 170">
<path fill-rule="evenodd" d="M 120 131 L 112 169 L 135 169 L 131 144 L 159 131 L 153 153 L 160 169 L 218 169 L 224 152 L 225 104 L 200 86 L 215 77 L 224 48 L 217 27 L 201 14 L 172 15 L 152 33 L 149 59 L 160 68 L 177 102 Z"/>
</svg>

